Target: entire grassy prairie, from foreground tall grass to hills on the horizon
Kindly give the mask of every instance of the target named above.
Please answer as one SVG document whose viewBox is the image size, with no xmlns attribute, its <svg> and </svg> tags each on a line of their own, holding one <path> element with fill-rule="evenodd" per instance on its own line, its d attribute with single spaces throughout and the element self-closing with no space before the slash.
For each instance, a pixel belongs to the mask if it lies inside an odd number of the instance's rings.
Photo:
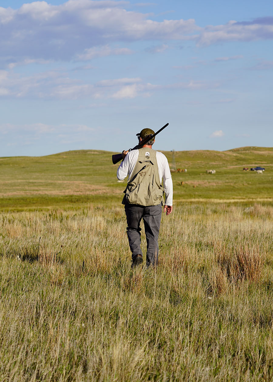
<svg viewBox="0 0 273 382">
<path fill-rule="evenodd" d="M 0 159 L 0 380 L 271 381 L 273 149 L 177 152 L 149 270 L 110 154 Z"/>
</svg>

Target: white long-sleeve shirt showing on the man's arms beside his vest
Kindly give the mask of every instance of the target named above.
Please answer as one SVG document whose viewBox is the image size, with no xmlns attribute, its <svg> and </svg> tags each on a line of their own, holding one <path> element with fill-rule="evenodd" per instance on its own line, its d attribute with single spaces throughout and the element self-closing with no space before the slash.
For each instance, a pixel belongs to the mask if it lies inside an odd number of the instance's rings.
<svg viewBox="0 0 273 382">
<path fill-rule="evenodd" d="M 138 159 L 138 150 L 129 151 L 116 173 L 119 180 L 124 180 L 128 175 L 131 178 L 132 172 Z M 165 190 L 165 204 L 167 206 L 173 205 L 173 181 L 171 180 L 171 172 L 167 158 L 162 152 L 157 151 L 157 167 L 159 180 L 163 179 L 163 187 Z"/>
</svg>

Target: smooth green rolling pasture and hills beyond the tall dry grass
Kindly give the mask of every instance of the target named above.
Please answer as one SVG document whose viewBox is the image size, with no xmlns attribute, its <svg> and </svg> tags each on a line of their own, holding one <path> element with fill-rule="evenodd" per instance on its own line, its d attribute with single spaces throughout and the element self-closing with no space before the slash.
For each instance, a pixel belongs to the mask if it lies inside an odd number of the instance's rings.
<svg viewBox="0 0 273 382">
<path fill-rule="evenodd" d="M 0 208 L 73 207 L 86 203 L 119 203 L 125 183 L 117 183 L 117 165 L 106 151 L 69 151 L 46 157 L 0 158 Z M 170 163 L 172 153 L 164 152 Z M 253 202 L 272 200 L 273 149 L 243 147 L 225 152 L 181 151 L 172 173 L 174 202 L 202 199 Z M 243 172 L 262 165 L 265 172 Z M 207 169 L 216 174 L 207 174 Z M 181 182 L 184 182 L 181 185 Z"/>
</svg>

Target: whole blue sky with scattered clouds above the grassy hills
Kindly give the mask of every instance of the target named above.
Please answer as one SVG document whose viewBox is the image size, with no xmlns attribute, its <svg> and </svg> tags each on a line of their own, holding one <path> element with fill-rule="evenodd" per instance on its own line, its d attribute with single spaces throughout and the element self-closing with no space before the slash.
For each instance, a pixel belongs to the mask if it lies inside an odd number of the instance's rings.
<svg viewBox="0 0 273 382">
<path fill-rule="evenodd" d="M 0 156 L 272 146 L 268 1 L 0 3 Z"/>
</svg>

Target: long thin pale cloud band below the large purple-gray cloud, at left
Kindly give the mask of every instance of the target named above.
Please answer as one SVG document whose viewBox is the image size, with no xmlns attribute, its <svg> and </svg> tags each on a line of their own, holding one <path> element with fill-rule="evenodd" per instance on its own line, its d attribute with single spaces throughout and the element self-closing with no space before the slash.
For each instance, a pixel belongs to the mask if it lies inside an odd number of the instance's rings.
<svg viewBox="0 0 273 382">
<path fill-rule="evenodd" d="M 220 86 L 216 81 L 176 82 L 168 85 L 145 83 L 141 78 L 103 79 L 90 83 L 70 78 L 69 73 L 62 70 L 49 70 L 24 76 L 13 71 L 0 70 L 0 97 L 40 98 L 40 99 L 123 99 L 137 96 L 150 97 L 151 91 L 165 89 L 204 90 Z"/>
</svg>

